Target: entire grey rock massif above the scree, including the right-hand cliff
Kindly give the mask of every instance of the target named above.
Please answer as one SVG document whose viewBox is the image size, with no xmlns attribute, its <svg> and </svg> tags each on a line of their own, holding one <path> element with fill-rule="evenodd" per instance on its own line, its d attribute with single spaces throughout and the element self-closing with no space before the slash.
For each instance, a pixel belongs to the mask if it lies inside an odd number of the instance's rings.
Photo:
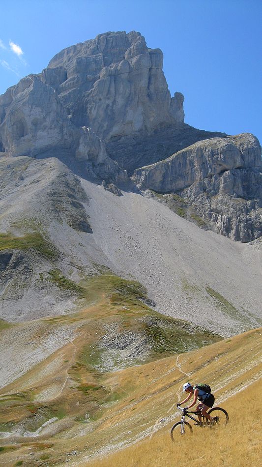
<svg viewBox="0 0 262 467">
<path fill-rule="evenodd" d="M 135 31 L 62 50 L 0 96 L 0 155 L 56 157 L 118 196 L 135 171 L 139 186 L 180 196 L 215 232 L 258 238 L 259 142 L 185 124 L 162 67 L 161 50 Z"/>
</svg>

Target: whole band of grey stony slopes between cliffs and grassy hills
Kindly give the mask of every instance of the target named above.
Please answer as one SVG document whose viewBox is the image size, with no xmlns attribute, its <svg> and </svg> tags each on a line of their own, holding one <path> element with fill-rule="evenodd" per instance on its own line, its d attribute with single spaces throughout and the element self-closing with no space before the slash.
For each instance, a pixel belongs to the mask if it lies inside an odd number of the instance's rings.
<svg viewBox="0 0 262 467">
<path fill-rule="evenodd" d="M 78 284 L 105 266 L 141 282 L 162 314 L 225 336 L 261 324 L 259 240 L 204 231 L 134 186 L 116 196 L 57 159 L 17 157 L 1 167 L 6 321 L 79 310 Z"/>
</svg>

